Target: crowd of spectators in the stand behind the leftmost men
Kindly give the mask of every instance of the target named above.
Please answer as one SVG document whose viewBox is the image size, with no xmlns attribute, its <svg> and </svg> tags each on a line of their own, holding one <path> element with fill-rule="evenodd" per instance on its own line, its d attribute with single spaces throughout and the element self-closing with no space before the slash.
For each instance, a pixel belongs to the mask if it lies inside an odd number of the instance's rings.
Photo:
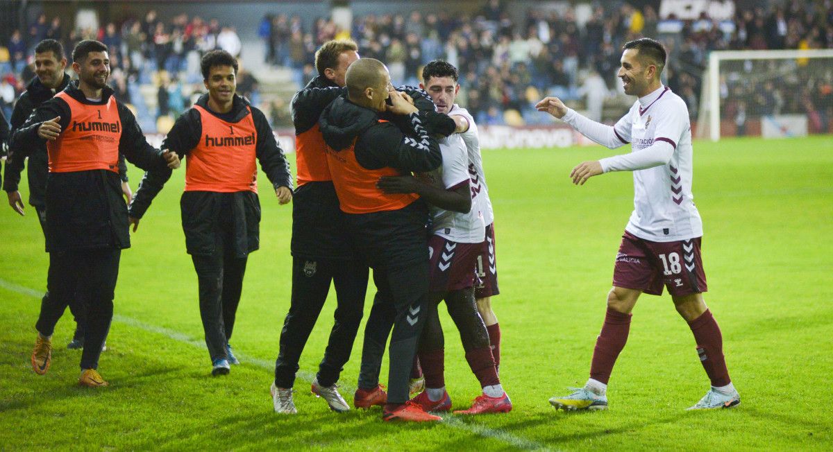
<svg viewBox="0 0 833 452">
<path fill-rule="evenodd" d="M 173 119 L 191 106 L 192 93 L 204 91 L 199 61 L 202 54 L 222 48 L 239 56 L 242 42 L 233 27 L 222 26 L 216 19 L 188 17 L 179 14 L 167 20 L 155 10 L 144 17 L 131 17 L 122 22 L 105 22 L 100 27 L 71 28 L 64 32 L 61 17 L 48 20 L 40 14 L 26 33 L 13 30 L 7 48 L 7 62 L 0 62 L 0 73 L 6 85 L 0 86 L 2 107 L 11 109 L 7 97 L 16 98 L 35 76 L 32 67 L 34 47 L 42 39 L 62 42 L 67 60 L 75 44 L 82 39 L 97 39 L 109 49 L 111 76 L 108 84 L 122 102 L 137 108 L 144 130 L 156 130 L 160 117 Z M 71 69 L 67 67 L 67 72 Z M 247 72 L 240 74 L 238 91 L 257 98 L 257 81 Z M 156 91 L 152 108 L 145 106 L 140 85 Z M 8 116 L 7 116 L 8 117 Z M 143 120 L 143 121 L 142 121 Z M 168 124 L 171 121 L 166 121 Z"/>
</svg>

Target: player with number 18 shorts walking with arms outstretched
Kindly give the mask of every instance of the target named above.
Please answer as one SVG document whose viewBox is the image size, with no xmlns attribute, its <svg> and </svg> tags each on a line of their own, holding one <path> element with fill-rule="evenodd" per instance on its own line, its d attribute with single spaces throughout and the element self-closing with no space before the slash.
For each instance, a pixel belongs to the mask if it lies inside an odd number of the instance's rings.
<svg viewBox="0 0 833 452">
<path fill-rule="evenodd" d="M 633 171 L 634 211 L 622 236 L 607 313 L 593 352 L 590 379 L 571 395 L 553 397 L 564 410 L 605 410 L 607 382 L 625 346 L 631 310 L 642 292 L 668 288 L 677 312 L 688 322 L 711 389 L 690 410 L 731 408 L 741 403 L 732 385 L 720 327 L 703 301 L 706 274 L 701 261 L 702 223 L 691 195 L 691 126 L 683 100 L 660 81 L 666 50 L 650 38 L 627 42 L 619 77 L 627 94 L 638 97 L 616 125 L 606 126 L 546 97 L 537 109 L 561 118 L 609 148 L 631 144 L 631 153 L 573 168 L 573 183 L 610 171 Z"/>
</svg>

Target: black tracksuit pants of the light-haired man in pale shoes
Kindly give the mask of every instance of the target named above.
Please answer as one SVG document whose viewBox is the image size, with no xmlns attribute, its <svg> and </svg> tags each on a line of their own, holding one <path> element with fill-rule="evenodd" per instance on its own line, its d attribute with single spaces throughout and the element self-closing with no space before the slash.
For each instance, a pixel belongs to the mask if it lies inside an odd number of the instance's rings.
<svg viewBox="0 0 833 452">
<path fill-rule="evenodd" d="M 294 385 L 298 361 L 327 301 L 331 281 L 337 297 L 335 323 L 318 366 L 317 380 L 322 386 L 338 381 L 362 322 L 368 273 L 367 266 L 359 261 L 292 258 L 292 301 L 283 320 L 281 350 L 275 361 L 277 387 Z"/>
</svg>

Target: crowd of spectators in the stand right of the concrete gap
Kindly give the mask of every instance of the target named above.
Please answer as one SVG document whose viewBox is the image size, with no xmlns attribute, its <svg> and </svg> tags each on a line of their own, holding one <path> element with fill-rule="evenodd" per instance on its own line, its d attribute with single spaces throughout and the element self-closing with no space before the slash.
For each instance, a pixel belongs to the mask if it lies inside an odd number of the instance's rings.
<svg viewBox="0 0 833 452">
<path fill-rule="evenodd" d="M 300 17 L 274 14 L 264 17 L 258 32 L 267 42 L 267 62 L 292 67 L 299 84 L 315 76 L 312 55 L 333 37 L 354 38 L 363 57 L 387 64 L 394 82 L 414 84 L 423 64 L 444 58 L 460 68 L 460 102 L 486 124 L 504 122 L 507 111 L 520 113 L 527 124 L 548 121 L 532 107 L 546 94 L 575 102 L 590 117 L 602 119 L 603 103 L 623 96 L 616 79 L 619 55 L 622 44 L 636 37 L 657 37 L 666 44 L 670 56 L 666 81 L 686 99 L 694 120 L 710 51 L 833 48 L 831 2 L 787 2 L 786 7 L 771 10 L 738 8 L 736 17 L 726 21 L 713 20 L 705 13 L 682 21 L 658 17 L 651 5 L 639 9 L 628 3 L 607 4 L 596 2 L 590 19 L 583 23 L 576 20 L 572 7 L 531 8 L 522 21 L 513 21 L 506 2 L 489 0 L 472 15 L 413 11 L 354 17 L 349 33 L 327 19 L 304 29 Z M 824 71 L 812 77 L 821 78 L 809 81 L 799 97 L 817 97 L 830 86 Z M 781 97 L 788 96 L 789 87 L 770 83 L 781 91 Z M 763 87 L 763 81 L 744 83 L 731 90 L 731 96 L 752 98 Z M 632 100 L 622 102 L 627 105 Z M 728 102 L 723 107 L 731 114 L 736 105 Z M 783 112 L 801 110 L 802 105 L 806 102 L 792 102 Z M 826 105 L 829 114 L 830 104 Z M 611 109 L 611 115 L 621 112 L 621 108 Z"/>
</svg>

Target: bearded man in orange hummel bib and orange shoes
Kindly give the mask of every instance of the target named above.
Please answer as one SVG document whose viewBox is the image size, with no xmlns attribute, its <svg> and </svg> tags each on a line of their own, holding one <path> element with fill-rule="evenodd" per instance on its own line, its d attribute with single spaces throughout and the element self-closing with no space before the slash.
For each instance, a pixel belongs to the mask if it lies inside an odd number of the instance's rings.
<svg viewBox="0 0 833 452">
<path fill-rule="evenodd" d="M 112 298 L 122 249 L 130 246 L 127 206 L 118 177 L 118 155 L 146 170 L 179 167 L 179 158 L 147 144 L 136 117 L 107 87 L 110 59 L 101 42 L 78 42 L 72 51 L 78 80 L 43 102 L 12 137 L 12 153 L 27 154 L 47 142 L 47 290 L 37 320 L 32 368 L 45 374 L 52 331 L 77 292 L 87 299 L 85 386 L 103 386 L 98 356 L 112 320 Z"/>
</svg>

